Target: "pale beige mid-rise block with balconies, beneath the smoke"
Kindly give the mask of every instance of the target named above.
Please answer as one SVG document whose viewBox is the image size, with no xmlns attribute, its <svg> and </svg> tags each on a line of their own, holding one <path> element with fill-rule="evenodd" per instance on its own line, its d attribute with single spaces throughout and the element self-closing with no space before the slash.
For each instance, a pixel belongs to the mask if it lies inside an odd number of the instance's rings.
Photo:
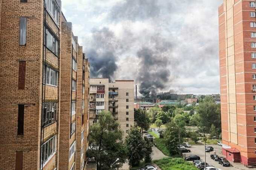
<svg viewBox="0 0 256 170">
<path fill-rule="evenodd" d="M 110 111 L 120 123 L 124 137 L 134 126 L 134 81 L 116 80 L 109 83 L 108 78 L 90 78 L 90 122 L 97 122 L 101 111 Z"/>
</svg>

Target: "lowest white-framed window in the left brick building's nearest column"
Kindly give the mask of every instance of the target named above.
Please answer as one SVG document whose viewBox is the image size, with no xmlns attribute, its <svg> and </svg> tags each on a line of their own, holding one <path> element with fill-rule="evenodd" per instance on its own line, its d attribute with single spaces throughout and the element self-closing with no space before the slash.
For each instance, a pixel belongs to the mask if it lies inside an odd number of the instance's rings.
<svg viewBox="0 0 256 170">
<path fill-rule="evenodd" d="M 56 135 L 47 140 L 42 149 L 41 161 L 43 162 L 43 166 L 47 164 L 47 162 L 52 158 L 52 156 L 56 152 Z"/>
</svg>

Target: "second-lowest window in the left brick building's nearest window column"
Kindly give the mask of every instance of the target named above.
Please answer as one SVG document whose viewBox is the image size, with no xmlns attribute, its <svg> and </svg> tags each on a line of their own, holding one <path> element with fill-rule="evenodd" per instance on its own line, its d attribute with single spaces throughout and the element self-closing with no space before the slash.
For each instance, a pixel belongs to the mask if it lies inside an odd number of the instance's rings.
<svg viewBox="0 0 256 170">
<path fill-rule="evenodd" d="M 43 105 L 44 126 L 56 121 L 57 103 L 45 103 Z"/>
</svg>

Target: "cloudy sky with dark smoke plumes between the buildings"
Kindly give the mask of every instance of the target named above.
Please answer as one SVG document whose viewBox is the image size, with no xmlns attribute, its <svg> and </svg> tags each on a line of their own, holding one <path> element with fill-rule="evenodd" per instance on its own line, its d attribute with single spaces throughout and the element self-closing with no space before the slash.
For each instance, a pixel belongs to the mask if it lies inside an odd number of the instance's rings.
<svg viewBox="0 0 256 170">
<path fill-rule="evenodd" d="M 132 79 L 143 95 L 219 93 L 223 0 L 62 0 L 91 77 Z"/>
</svg>

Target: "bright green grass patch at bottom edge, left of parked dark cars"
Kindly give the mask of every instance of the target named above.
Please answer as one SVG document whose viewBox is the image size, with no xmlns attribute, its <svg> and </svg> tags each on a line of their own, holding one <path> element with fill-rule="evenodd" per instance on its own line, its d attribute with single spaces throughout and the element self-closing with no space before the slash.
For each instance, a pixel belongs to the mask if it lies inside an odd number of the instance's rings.
<svg viewBox="0 0 256 170">
<path fill-rule="evenodd" d="M 154 161 L 162 170 L 198 170 L 192 163 L 182 158 L 164 158 Z"/>
</svg>

